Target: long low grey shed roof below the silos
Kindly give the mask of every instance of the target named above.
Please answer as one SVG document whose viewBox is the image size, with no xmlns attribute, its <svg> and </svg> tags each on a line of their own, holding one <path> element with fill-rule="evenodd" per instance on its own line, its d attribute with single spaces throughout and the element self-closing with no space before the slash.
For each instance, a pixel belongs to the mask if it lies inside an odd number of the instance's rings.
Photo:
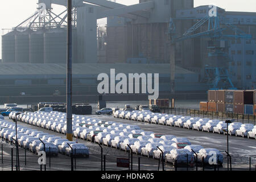
<svg viewBox="0 0 256 182">
<path fill-rule="evenodd" d="M 170 64 L 73 64 L 73 75 L 98 75 L 100 73 L 160 73 L 169 74 Z M 175 67 L 177 74 L 193 74 Z M 0 64 L 0 75 L 65 75 L 66 64 Z"/>
</svg>

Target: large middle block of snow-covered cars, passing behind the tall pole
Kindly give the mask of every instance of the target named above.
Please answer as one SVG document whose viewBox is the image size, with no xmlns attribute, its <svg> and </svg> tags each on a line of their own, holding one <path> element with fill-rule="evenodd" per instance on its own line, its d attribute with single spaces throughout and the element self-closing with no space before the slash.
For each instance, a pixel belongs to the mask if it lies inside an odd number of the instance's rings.
<svg viewBox="0 0 256 182">
<path fill-rule="evenodd" d="M 10 114 L 10 118 L 14 119 L 14 115 Z M 18 115 L 17 120 L 63 134 L 65 134 L 67 123 L 66 114 L 57 111 L 51 113 L 25 112 Z M 192 150 L 196 152 L 199 162 L 204 159 L 204 162 L 208 163 L 212 155 L 209 152 L 216 151 L 219 163 L 222 164 L 223 156 L 220 151 L 214 148 L 192 145 L 187 138 L 144 131 L 137 125 L 104 121 L 86 115 L 73 114 L 72 121 L 74 137 L 90 142 L 100 143 L 123 151 L 129 151 L 130 146 L 135 154 L 154 159 L 159 159 L 163 151 L 163 159 L 166 162 L 174 163 L 176 161 L 177 164 L 187 163 L 187 161 L 191 164 L 194 163 L 195 154 Z"/>
</svg>

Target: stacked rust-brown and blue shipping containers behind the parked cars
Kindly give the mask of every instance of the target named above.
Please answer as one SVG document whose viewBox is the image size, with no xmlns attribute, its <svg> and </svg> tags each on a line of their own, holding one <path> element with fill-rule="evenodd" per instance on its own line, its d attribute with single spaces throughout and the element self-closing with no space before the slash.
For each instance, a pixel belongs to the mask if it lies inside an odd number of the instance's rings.
<svg viewBox="0 0 256 182">
<path fill-rule="evenodd" d="M 200 110 L 256 115 L 256 90 L 209 90 Z"/>
</svg>

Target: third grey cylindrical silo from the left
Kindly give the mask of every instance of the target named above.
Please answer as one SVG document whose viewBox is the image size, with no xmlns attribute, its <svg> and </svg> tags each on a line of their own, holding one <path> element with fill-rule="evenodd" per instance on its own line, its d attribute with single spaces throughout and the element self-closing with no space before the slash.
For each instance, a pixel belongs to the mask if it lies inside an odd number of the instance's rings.
<svg viewBox="0 0 256 182">
<path fill-rule="evenodd" d="M 44 63 L 44 31 L 31 32 L 29 45 L 30 63 Z"/>
</svg>

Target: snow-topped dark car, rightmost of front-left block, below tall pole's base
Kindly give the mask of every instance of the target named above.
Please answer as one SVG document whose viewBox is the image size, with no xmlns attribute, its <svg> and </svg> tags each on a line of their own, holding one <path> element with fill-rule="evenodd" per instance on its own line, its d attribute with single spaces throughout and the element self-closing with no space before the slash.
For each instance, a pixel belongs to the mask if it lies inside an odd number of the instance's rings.
<svg viewBox="0 0 256 182">
<path fill-rule="evenodd" d="M 71 156 L 71 152 L 73 152 L 73 156 L 80 156 L 80 155 L 85 155 L 86 157 L 89 157 L 89 148 L 86 147 L 84 144 L 82 143 L 73 143 L 70 144 L 71 147 L 67 147 L 66 148 L 66 155 Z"/>
</svg>

